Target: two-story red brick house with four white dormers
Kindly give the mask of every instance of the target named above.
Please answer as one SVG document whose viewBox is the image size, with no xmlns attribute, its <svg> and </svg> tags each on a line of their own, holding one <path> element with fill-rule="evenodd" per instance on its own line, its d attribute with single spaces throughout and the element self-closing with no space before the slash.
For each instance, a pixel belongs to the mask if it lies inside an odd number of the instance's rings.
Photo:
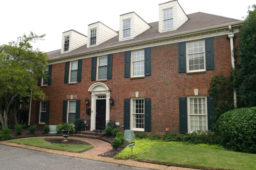
<svg viewBox="0 0 256 170">
<path fill-rule="evenodd" d="M 210 81 L 221 72 L 229 76 L 243 21 L 187 15 L 173 0 L 159 4 L 159 21 L 146 23 L 130 12 L 119 23 L 118 31 L 96 22 L 87 36 L 62 34 L 61 49 L 48 52 L 50 77 L 38 81 L 45 97 L 32 101 L 30 124 L 80 118 L 90 121 L 90 131 L 108 120 L 121 131 L 211 129 Z"/>
</svg>

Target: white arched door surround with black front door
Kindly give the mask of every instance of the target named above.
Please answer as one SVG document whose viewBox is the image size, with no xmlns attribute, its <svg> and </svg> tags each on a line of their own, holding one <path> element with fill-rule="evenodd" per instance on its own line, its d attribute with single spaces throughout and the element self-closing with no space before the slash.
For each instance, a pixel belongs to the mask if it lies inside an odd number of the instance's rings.
<svg viewBox="0 0 256 170">
<path fill-rule="evenodd" d="M 88 89 L 91 92 L 91 127 L 90 131 L 96 129 L 96 121 L 109 120 L 110 114 L 110 88 L 102 83 L 96 82 Z"/>
</svg>

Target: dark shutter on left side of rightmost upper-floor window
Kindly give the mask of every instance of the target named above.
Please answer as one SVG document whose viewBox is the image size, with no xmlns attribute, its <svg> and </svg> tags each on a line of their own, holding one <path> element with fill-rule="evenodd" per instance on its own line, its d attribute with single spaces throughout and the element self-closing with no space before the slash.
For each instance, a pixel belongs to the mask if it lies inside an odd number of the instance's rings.
<svg viewBox="0 0 256 170">
<path fill-rule="evenodd" d="M 178 43 L 179 72 L 186 72 L 186 42 Z"/>
</svg>

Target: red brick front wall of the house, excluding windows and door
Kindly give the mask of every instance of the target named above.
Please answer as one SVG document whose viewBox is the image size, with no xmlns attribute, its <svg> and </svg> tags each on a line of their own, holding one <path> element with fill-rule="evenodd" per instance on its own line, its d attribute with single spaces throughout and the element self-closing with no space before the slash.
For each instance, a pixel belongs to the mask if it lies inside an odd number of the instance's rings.
<svg viewBox="0 0 256 170">
<path fill-rule="evenodd" d="M 234 42 L 236 43 L 236 42 Z M 208 89 L 214 74 L 223 72 L 229 76 L 231 67 L 230 40 L 227 35 L 213 37 L 214 70 L 205 72 L 178 72 L 178 43 L 151 47 L 151 75 L 142 78 L 124 77 L 124 52 L 113 53 L 112 79 L 91 81 L 92 58 L 82 59 L 82 81 L 64 84 L 65 63 L 52 65 L 51 85 L 41 86 L 45 100 L 50 101 L 49 125 L 62 123 L 63 100 L 81 100 L 80 118 L 87 119 L 84 99 L 91 102 L 90 86 L 95 82 L 106 84 L 114 98 L 110 120 L 124 125 L 124 99 L 133 98 L 135 92 L 139 97 L 151 98 L 151 132 L 163 134 L 166 128 L 180 131 L 179 98 L 198 95 L 209 96 Z M 39 99 L 37 100 L 39 101 Z M 108 102 L 108 101 L 107 101 Z M 88 106 L 91 108 L 91 106 Z M 30 124 L 35 124 L 36 101 L 32 102 Z"/>
</svg>

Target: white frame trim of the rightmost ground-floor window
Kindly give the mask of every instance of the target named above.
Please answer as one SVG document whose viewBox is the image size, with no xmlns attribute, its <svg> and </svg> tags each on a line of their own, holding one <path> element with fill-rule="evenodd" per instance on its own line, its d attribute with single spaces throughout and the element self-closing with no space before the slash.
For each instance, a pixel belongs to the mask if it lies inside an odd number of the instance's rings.
<svg viewBox="0 0 256 170">
<path fill-rule="evenodd" d="M 204 130 L 208 130 L 208 113 L 207 113 L 207 96 L 189 96 L 188 97 L 188 102 L 187 102 L 187 107 L 188 107 L 188 133 L 192 133 L 193 131 L 191 131 L 191 129 L 190 129 L 190 115 L 199 115 L 199 114 L 190 114 L 190 99 L 191 98 L 205 98 L 205 109 L 206 109 L 206 114 L 205 114 L 205 116 L 206 116 L 206 129 L 204 129 Z"/>
</svg>

